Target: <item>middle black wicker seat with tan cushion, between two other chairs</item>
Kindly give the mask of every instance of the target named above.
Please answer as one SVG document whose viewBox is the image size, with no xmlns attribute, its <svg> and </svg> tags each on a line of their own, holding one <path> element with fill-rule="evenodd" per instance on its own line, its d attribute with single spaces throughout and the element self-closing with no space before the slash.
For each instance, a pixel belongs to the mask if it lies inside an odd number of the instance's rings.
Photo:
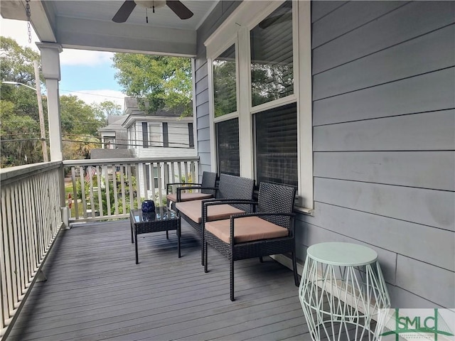
<svg viewBox="0 0 455 341">
<path fill-rule="evenodd" d="M 255 186 L 255 180 L 249 178 L 242 178 L 240 176 L 221 174 L 220 181 L 217 188 L 206 188 L 208 190 L 214 190 L 216 199 L 207 200 L 192 200 L 189 202 L 177 202 L 176 210 L 178 215 L 188 224 L 190 224 L 196 231 L 201 240 L 200 247 L 200 262 L 204 265 L 203 259 L 203 203 L 210 202 L 210 200 L 236 200 L 235 205 L 223 205 L 220 207 L 221 210 L 215 210 L 213 212 L 205 213 L 205 220 L 219 220 L 227 219 L 233 214 L 239 214 L 244 212 L 250 212 L 250 202 L 253 197 L 253 188 Z M 242 202 L 247 202 L 246 205 L 242 205 Z M 223 202 L 221 202 L 223 203 Z"/>
</svg>

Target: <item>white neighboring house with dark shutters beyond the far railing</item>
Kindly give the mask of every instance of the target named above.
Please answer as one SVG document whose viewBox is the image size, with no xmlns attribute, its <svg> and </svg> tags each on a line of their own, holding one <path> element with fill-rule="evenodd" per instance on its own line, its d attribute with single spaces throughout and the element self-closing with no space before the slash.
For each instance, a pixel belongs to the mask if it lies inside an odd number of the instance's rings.
<svg viewBox="0 0 455 341">
<path fill-rule="evenodd" d="M 137 99 L 125 97 L 124 116 L 122 119 L 113 121 L 105 128 L 99 129 L 100 134 L 105 136 L 105 148 L 114 146 L 117 148 L 129 148 L 132 156 L 136 158 L 186 158 L 196 156 L 194 147 L 193 117 L 181 117 L 182 111 L 159 110 L 152 114 L 146 114 L 139 109 Z M 115 136 L 115 137 L 112 137 Z M 119 140 L 118 136 L 124 136 Z M 120 144 L 119 141 L 122 143 Z M 111 142 L 108 144 L 108 142 Z M 120 153 L 120 151 L 118 151 Z M 178 170 L 165 169 L 160 163 L 145 164 L 145 169 L 139 166 L 140 195 L 153 197 L 161 188 L 166 191 L 167 182 L 179 182 Z M 183 178 L 187 178 L 183 172 Z M 173 179 L 172 179 L 173 178 Z M 160 180 L 161 179 L 161 180 Z"/>
</svg>

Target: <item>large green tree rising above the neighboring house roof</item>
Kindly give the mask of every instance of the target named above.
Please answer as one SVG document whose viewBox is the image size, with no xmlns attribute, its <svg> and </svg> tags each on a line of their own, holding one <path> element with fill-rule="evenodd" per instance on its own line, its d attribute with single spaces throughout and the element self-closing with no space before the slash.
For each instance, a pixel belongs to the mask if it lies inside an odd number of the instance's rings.
<svg viewBox="0 0 455 341">
<path fill-rule="evenodd" d="M 192 114 L 189 58 L 115 53 L 112 60 L 115 78 L 128 96 L 138 99 L 139 109 L 149 114 L 183 109 L 183 116 Z"/>
</svg>

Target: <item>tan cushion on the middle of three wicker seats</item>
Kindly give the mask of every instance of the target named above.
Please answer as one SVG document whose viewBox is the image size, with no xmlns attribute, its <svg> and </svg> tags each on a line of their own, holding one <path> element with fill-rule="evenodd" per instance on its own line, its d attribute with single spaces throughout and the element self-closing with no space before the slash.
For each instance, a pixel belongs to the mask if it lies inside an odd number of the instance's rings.
<svg viewBox="0 0 455 341">
<path fill-rule="evenodd" d="M 200 217 L 201 204 L 202 200 L 176 202 L 176 208 L 193 220 L 193 222 L 198 222 L 200 224 L 200 222 L 202 222 Z M 231 205 L 213 205 L 208 207 L 207 219 L 209 222 L 211 220 L 228 219 L 231 215 L 238 215 L 243 212 L 244 211 L 232 207 Z"/>
</svg>

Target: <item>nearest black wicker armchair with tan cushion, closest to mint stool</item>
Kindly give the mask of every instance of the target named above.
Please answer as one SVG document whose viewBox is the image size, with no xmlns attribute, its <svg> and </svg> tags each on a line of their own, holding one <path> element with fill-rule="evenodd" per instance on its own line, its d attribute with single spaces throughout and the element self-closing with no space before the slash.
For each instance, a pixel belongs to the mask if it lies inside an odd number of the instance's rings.
<svg viewBox="0 0 455 341">
<path fill-rule="evenodd" d="M 256 212 L 232 215 L 228 220 L 209 222 L 206 212 L 210 205 L 219 205 L 219 201 L 204 203 L 203 214 L 205 228 L 204 264 L 208 272 L 207 244 L 218 250 L 230 260 L 230 300 L 234 301 L 234 261 L 271 254 L 290 252 L 294 268 L 294 281 L 299 286 L 296 269 L 294 219 L 292 213 L 295 200 L 295 188 L 272 183 L 261 183 Z M 222 203 L 235 205 L 234 200 Z M 242 202 L 245 203 L 245 202 Z M 231 241 L 234 242 L 231 242 Z"/>
</svg>

